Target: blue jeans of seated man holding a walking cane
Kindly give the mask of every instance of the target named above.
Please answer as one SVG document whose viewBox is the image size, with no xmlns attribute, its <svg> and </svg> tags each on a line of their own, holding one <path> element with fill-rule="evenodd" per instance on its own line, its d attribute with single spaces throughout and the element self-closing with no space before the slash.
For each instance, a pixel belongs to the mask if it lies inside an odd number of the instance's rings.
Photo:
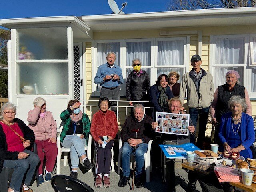
<svg viewBox="0 0 256 192">
<path fill-rule="evenodd" d="M 135 161 L 136 161 L 136 170 L 135 176 L 140 177 L 142 173 L 142 167 L 144 165 L 144 154 L 148 150 L 148 144 L 140 143 L 137 145 L 136 150 L 134 152 Z M 134 151 L 134 148 L 131 147 L 128 142 L 124 142 L 122 146 L 122 153 L 121 153 L 121 161 L 122 161 L 122 170 L 123 176 L 129 177 L 130 176 L 130 156 L 131 153 Z"/>
</svg>

